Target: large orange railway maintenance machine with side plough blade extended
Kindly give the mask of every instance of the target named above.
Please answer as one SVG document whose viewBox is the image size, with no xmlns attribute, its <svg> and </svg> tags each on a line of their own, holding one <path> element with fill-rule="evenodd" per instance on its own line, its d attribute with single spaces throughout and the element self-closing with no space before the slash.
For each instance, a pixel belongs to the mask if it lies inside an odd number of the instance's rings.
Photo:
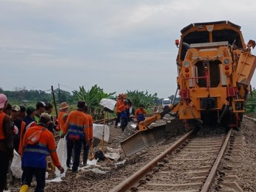
<svg viewBox="0 0 256 192">
<path fill-rule="evenodd" d="M 176 40 L 177 90 L 181 100 L 172 113 L 186 127 L 240 127 L 246 97 L 252 89 L 256 61 L 251 49 L 255 48 L 255 41 L 244 43 L 241 26 L 230 21 L 190 24 L 181 33 L 180 40 Z M 140 131 L 121 142 L 126 155 L 164 138 L 167 124 L 147 127 L 163 115 L 141 122 Z"/>
</svg>

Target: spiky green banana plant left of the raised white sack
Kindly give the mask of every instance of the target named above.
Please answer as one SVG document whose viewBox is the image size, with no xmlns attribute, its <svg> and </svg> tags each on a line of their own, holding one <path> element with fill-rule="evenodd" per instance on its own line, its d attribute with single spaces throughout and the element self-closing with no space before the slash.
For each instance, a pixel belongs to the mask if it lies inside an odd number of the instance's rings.
<svg viewBox="0 0 256 192">
<path fill-rule="evenodd" d="M 89 113 L 94 116 L 94 118 L 103 118 L 103 107 L 99 104 L 102 99 L 113 99 L 114 93 L 104 93 L 102 88 L 98 85 L 93 85 L 90 90 L 85 90 L 84 86 L 80 86 L 79 90 L 73 91 L 74 96 L 78 100 L 83 100 L 88 104 Z"/>
</svg>

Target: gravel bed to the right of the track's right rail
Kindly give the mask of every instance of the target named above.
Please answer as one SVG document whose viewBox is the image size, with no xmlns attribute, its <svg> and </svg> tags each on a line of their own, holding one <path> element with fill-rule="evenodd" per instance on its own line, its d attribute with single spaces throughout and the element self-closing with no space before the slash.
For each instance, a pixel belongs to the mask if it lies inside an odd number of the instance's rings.
<svg viewBox="0 0 256 192">
<path fill-rule="evenodd" d="M 243 118 L 241 131 L 234 131 L 232 137 L 212 191 L 256 191 L 256 122 Z"/>
</svg>

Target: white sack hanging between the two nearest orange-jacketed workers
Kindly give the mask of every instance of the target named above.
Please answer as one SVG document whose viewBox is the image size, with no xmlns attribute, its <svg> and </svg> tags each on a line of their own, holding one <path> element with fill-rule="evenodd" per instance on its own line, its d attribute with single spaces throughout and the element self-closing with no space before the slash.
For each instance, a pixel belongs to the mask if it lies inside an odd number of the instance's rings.
<svg viewBox="0 0 256 192">
<path fill-rule="evenodd" d="M 67 162 L 68 154 L 67 154 L 67 141 L 65 140 L 65 138 L 60 138 L 60 141 L 57 145 L 56 152 L 59 157 L 60 165 L 63 166 L 65 171 L 67 171 L 68 167 L 66 162 Z M 63 174 L 60 174 L 59 169 L 55 168 L 56 177 L 65 177 L 65 171 Z"/>
</svg>

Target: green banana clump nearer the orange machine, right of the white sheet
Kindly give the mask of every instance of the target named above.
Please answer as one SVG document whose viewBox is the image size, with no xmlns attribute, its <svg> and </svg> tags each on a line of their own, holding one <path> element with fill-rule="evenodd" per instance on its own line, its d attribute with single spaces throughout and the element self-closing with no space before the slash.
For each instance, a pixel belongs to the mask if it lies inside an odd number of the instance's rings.
<svg viewBox="0 0 256 192">
<path fill-rule="evenodd" d="M 138 108 L 140 104 L 143 104 L 145 108 L 148 108 L 156 103 L 157 93 L 152 95 L 149 94 L 147 90 L 145 93 L 144 91 L 127 90 L 127 99 L 129 99 L 136 108 Z"/>
</svg>

